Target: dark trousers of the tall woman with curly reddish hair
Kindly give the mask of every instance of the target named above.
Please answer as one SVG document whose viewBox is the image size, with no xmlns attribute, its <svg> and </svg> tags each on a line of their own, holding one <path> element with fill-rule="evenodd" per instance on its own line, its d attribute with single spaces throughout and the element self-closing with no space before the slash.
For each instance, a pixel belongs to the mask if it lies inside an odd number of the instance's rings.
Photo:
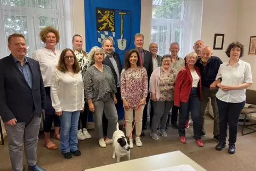
<svg viewBox="0 0 256 171">
<path fill-rule="evenodd" d="M 55 110 L 52 106 L 52 99 L 50 99 L 50 87 L 45 87 L 45 117 L 44 117 L 44 132 L 50 132 L 52 130 L 53 122 L 55 127 L 61 126 L 61 119 L 55 114 Z"/>
</svg>

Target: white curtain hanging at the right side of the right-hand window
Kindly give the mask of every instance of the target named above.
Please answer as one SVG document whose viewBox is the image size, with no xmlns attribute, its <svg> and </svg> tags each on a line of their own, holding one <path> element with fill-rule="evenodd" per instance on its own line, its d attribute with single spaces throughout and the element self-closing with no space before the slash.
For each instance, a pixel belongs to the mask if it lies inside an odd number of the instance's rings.
<svg viewBox="0 0 256 171">
<path fill-rule="evenodd" d="M 201 37 L 203 0 L 186 0 L 183 16 L 181 56 L 193 52 L 194 42 Z"/>
</svg>

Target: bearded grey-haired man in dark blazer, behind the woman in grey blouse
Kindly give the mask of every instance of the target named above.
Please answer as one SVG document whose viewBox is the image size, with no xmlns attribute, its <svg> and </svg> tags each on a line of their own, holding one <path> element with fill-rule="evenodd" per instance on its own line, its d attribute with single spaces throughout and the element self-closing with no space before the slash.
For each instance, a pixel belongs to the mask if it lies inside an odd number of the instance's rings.
<svg viewBox="0 0 256 171">
<path fill-rule="evenodd" d="M 120 76 L 122 71 L 121 60 L 120 60 L 120 56 L 117 53 L 113 52 L 114 42 L 110 37 L 105 37 L 101 45 L 105 54 L 107 55 L 106 58 L 104 59 L 103 64 L 108 65 L 110 67 L 116 82 L 116 99 L 117 99 L 116 109 L 117 109 L 117 106 L 119 106 L 120 103 L 122 102 L 121 90 L 120 90 Z M 104 135 L 107 133 L 107 125 L 108 125 L 108 120 L 104 115 L 103 116 Z M 106 143 L 108 144 L 111 142 L 110 140 L 107 139 Z"/>
</svg>

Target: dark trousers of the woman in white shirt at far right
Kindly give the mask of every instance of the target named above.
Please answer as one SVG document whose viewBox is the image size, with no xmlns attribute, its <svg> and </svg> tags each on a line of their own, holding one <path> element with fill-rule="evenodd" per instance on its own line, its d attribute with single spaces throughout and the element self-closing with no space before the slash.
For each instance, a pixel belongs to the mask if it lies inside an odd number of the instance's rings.
<svg viewBox="0 0 256 171">
<path fill-rule="evenodd" d="M 220 142 L 226 143 L 227 138 L 227 123 L 229 126 L 229 145 L 235 145 L 238 119 L 242 109 L 244 108 L 245 101 L 233 103 L 225 102 L 216 98 L 219 109 L 219 136 Z"/>
</svg>

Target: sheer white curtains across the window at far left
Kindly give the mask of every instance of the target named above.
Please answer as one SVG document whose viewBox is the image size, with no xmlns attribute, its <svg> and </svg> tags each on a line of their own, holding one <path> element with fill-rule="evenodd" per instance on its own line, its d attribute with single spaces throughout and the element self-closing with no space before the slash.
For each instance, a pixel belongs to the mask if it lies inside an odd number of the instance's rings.
<svg viewBox="0 0 256 171">
<path fill-rule="evenodd" d="M 12 33 L 24 35 L 28 53 L 44 47 L 39 33 L 52 25 L 59 31 L 60 41 L 56 48 L 72 47 L 73 0 L 0 0 L 0 58 L 10 54 L 7 38 Z"/>
</svg>

